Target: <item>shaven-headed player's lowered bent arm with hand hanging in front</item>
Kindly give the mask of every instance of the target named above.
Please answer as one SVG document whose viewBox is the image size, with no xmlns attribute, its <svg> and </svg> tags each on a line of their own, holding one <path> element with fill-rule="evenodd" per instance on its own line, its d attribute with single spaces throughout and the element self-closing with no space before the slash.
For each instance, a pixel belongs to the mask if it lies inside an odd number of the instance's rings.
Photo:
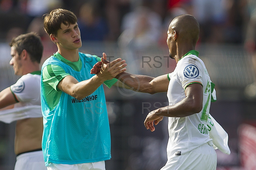
<svg viewBox="0 0 256 170">
<path fill-rule="evenodd" d="M 147 129 L 154 131 L 154 120 L 159 120 L 163 116 L 166 117 L 186 117 L 195 113 L 199 113 L 203 108 L 203 86 L 198 83 L 189 84 L 185 89 L 186 97 L 180 102 L 166 107 L 161 107 L 150 113 L 144 125 Z M 158 123 L 155 122 L 155 125 Z"/>
</svg>

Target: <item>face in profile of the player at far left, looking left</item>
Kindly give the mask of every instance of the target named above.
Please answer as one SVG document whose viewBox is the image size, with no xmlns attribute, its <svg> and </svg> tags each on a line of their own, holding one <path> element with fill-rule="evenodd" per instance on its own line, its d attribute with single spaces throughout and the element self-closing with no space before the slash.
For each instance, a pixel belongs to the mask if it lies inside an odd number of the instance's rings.
<svg viewBox="0 0 256 170">
<path fill-rule="evenodd" d="M 22 75 L 22 64 L 21 64 L 21 56 L 18 55 L 18 52 L 14 47 L 11 47 L 11 56 L 12 59 L 10 61 L 10 65 L 13 67 L 15 75 Z"/>
</svg>

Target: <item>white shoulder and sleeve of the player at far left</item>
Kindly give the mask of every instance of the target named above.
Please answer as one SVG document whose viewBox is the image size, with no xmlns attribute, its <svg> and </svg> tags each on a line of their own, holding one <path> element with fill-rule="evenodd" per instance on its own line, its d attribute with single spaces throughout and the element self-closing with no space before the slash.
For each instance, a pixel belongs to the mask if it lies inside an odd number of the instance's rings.
<svg viewBox="0 0 256 170">
<path fill-rule="evenodd" d="M 38 99 L 40 100 L 40 76 L 38 75 L 23 75 L 10 88 L 20 102 L 36 102 Z"/>
</svg>

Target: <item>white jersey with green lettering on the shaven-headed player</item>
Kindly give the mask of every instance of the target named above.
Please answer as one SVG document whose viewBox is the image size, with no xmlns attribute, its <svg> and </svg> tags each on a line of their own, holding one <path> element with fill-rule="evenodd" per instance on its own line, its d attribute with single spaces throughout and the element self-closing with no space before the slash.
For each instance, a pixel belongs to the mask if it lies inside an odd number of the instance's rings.
<svg viewBox="0 0 256 170">
<path fill-rule="evenodd" d="M 170 82 L 167 91 L 169 105 L 176 104 L 185 98 L 185 89 L 191 83 L 203 85 L 203 109 L 201 112 L 183 117 L 169 117 L 168 159 L 174 155 L 187 153 L 196 147 L 209 143 L 207 121 L 211 103 L 211 80 L 203 61 L 197 57 L 196 50 L 189 51 L 181 58 L 175 70 L 169 74 Z"/>
</svg>

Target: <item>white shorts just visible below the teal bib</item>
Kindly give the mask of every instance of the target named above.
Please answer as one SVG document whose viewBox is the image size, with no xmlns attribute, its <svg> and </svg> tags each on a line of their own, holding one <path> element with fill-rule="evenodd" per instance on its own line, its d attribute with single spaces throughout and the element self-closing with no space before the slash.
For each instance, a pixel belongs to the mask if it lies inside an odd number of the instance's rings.
<svg viewBox="0 0 256 170">
<path fill-rule="evenodd" d="M 90 162 L 83 164 L 53 164 L 49 163 L 47 170 L 106 170 L 105 161 Z"/>
</svg>

